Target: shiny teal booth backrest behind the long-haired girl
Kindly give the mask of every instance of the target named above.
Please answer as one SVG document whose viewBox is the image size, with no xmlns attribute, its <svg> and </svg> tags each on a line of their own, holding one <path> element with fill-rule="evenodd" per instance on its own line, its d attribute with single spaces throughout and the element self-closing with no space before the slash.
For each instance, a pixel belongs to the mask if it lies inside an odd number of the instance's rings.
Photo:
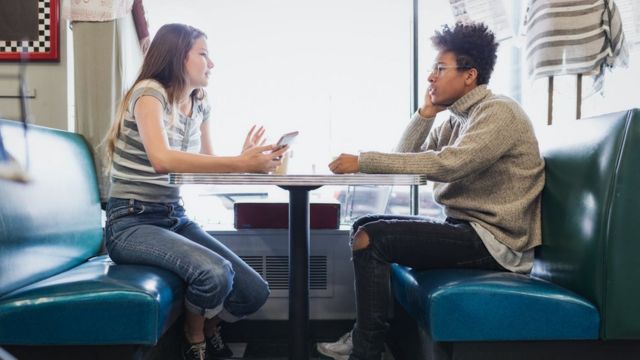
<svg viewBox="0 0 640 360">
<path fill-rule="evenodd" d="M 26 169 L 26 183 L 0 179 L 0 296 L 61 273 L 102 243 L 100 200 L 82 136 L 0 119 L 5 146 Z M 28 159 L 28 163 L 26 160 Z"/>
</svg>

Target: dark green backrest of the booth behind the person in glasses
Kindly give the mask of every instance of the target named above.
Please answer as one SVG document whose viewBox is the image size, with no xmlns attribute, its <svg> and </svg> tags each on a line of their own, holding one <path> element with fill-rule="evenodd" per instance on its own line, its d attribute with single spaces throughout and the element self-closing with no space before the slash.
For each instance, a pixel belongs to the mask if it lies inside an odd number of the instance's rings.
<svg viewBox="0 0 640 360">
<path fill-rule="evenodd" d="M 575 291 L 604 339 L 640 338 L 640 111 L 552 125 L 533 276 Z"/>
</svg>

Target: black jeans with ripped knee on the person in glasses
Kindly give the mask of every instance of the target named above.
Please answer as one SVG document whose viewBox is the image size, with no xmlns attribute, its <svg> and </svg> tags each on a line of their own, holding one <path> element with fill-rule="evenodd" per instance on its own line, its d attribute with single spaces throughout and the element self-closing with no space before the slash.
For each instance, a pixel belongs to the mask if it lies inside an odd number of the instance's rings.
<svg viewBox="0 0 640 360">
<path fill-rule="evenodd" d="M 417 270 L 505 269 L 491 256 L 469 222 L 418 216 L 368 215 L 353 224 L 369 235 L 369 246 L 353 251 L 356 326 L 350 360 L 379 360 L 388 328 L 390 263 Z M 352 240 L 353 241 L 353 240 Z"/>
</svg>

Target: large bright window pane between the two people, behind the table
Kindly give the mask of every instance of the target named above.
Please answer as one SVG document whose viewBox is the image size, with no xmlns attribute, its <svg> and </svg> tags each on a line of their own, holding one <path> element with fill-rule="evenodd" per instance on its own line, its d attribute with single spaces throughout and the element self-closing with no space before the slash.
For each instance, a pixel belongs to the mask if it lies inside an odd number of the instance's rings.
<svg viewBox="0 0 640 360">
<path fill-rule="evenodd" d="M 182 22 L 208 36 L 217 154 L 237 154 L 252 124 L 264 125 L 271 141 L 299 130 L 289 171 L 328 173 L 342 152 L 391 150 L 409 120 L 409 1 L 154 0 L 145 7 L 152 35 L 162 24 Z M 207 194 L 287 199 L 273 186 L 183 190 L 187 209 L 206 226 L 229 226 L 233 218 L 229 201 L 216 210 L 218 200 Z M 323 187 L 311 197 L 346 193 Z"/>
</svg>

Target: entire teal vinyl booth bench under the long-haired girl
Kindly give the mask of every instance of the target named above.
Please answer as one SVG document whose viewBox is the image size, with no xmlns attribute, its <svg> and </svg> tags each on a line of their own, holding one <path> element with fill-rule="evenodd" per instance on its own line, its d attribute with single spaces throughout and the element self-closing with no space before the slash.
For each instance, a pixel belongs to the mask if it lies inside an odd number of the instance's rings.
<svg viewBox="0 0 640 360">
<path fill-rule="evenodd" d="M 0 119 L 24 164 L 20 124 Z M 101 209 L 82 136 L 30 126 L 26 183 L 0 179 L 0 345 L 151 347 L 181 313 L 173 273 L 100 256 Z"/>
</svg>

